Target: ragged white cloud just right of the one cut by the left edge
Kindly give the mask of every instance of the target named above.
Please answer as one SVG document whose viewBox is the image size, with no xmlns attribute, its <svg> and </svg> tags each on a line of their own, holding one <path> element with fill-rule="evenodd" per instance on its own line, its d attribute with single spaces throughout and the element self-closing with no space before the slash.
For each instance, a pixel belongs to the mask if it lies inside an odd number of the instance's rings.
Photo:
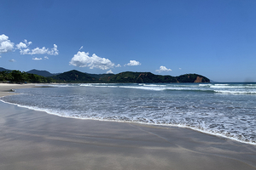
<svg viewBox="0 0 256 170">
<path fill-rule="evenodd" d="M 33 48 L 30 49 L 28 46 L 31 45 L 32 42 L 27 42 L 25 39 L 24 42 L 20 42 L 16 45 L 16 48 L 20 49 L 20 54 L 49 54 L 49 55 L 58 55 L 59 50 L 58 46 L 54 44 L 54 47 L 49 49 L 49 48 Z"/>
</svg>

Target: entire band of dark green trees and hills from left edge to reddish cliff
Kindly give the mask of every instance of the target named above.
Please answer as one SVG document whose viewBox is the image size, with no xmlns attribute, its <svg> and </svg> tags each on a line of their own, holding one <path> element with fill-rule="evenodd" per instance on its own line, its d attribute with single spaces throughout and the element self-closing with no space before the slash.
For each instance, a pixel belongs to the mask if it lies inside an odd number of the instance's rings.
<svg viewBox="0 0 256 170">
<path fill-rule="evenodd" d="M 36 83 L 170 83 L 170 82 L 210 82 L 207 77 L 198 74 L 185 74 L 179 77 L 154 75 L 151 72 L 125 71 L 119 74 L 88 74 L 80 71 L 67 71 L 51 77 L 32 74 L 36 72 L 45 75 L 48 71 L 0 71 L 0 82 L 36 82 Z M 50 73 L 49 73 L 50 74 Z M 48 74 L 48 75 L 49 75 Z"/>
</svg>

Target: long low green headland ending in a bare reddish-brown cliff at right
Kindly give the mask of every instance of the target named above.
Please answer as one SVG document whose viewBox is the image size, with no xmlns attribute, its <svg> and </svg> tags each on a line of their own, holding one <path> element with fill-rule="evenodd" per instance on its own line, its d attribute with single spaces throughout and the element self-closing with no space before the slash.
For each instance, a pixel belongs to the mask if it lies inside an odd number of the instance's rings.
<svg viewBox="0 0 256 170">
<path fill-rule="evenodd" d="M 111 77 L 103 77 L 102 82 L 109 83 L 157 83 L 157 82 L 210 82 L 207 77 L 197 74 L 186 74 L 179 77 L 154 75 L 151 72 L 121 72 Z"/>
</svg>

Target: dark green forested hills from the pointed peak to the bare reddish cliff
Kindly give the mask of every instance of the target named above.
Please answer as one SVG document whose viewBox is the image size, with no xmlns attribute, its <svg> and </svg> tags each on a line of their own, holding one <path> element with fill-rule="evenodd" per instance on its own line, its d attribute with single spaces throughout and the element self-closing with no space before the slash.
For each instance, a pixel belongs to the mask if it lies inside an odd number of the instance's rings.
<svg viewBox="0 0 256 170">
<path fill-rule="evenodd" d="M 154 75 L 151 72 L 121 72 L 116 75 L 103 74 L 92 77 L 80 71 L 67 71 L 55 77 L 57 82 L 102 82 L 102 83 L 157 83 L 157 82 L 210 82 L 207 77 L 185 74 L 179 77 Z"/>
</svg>

